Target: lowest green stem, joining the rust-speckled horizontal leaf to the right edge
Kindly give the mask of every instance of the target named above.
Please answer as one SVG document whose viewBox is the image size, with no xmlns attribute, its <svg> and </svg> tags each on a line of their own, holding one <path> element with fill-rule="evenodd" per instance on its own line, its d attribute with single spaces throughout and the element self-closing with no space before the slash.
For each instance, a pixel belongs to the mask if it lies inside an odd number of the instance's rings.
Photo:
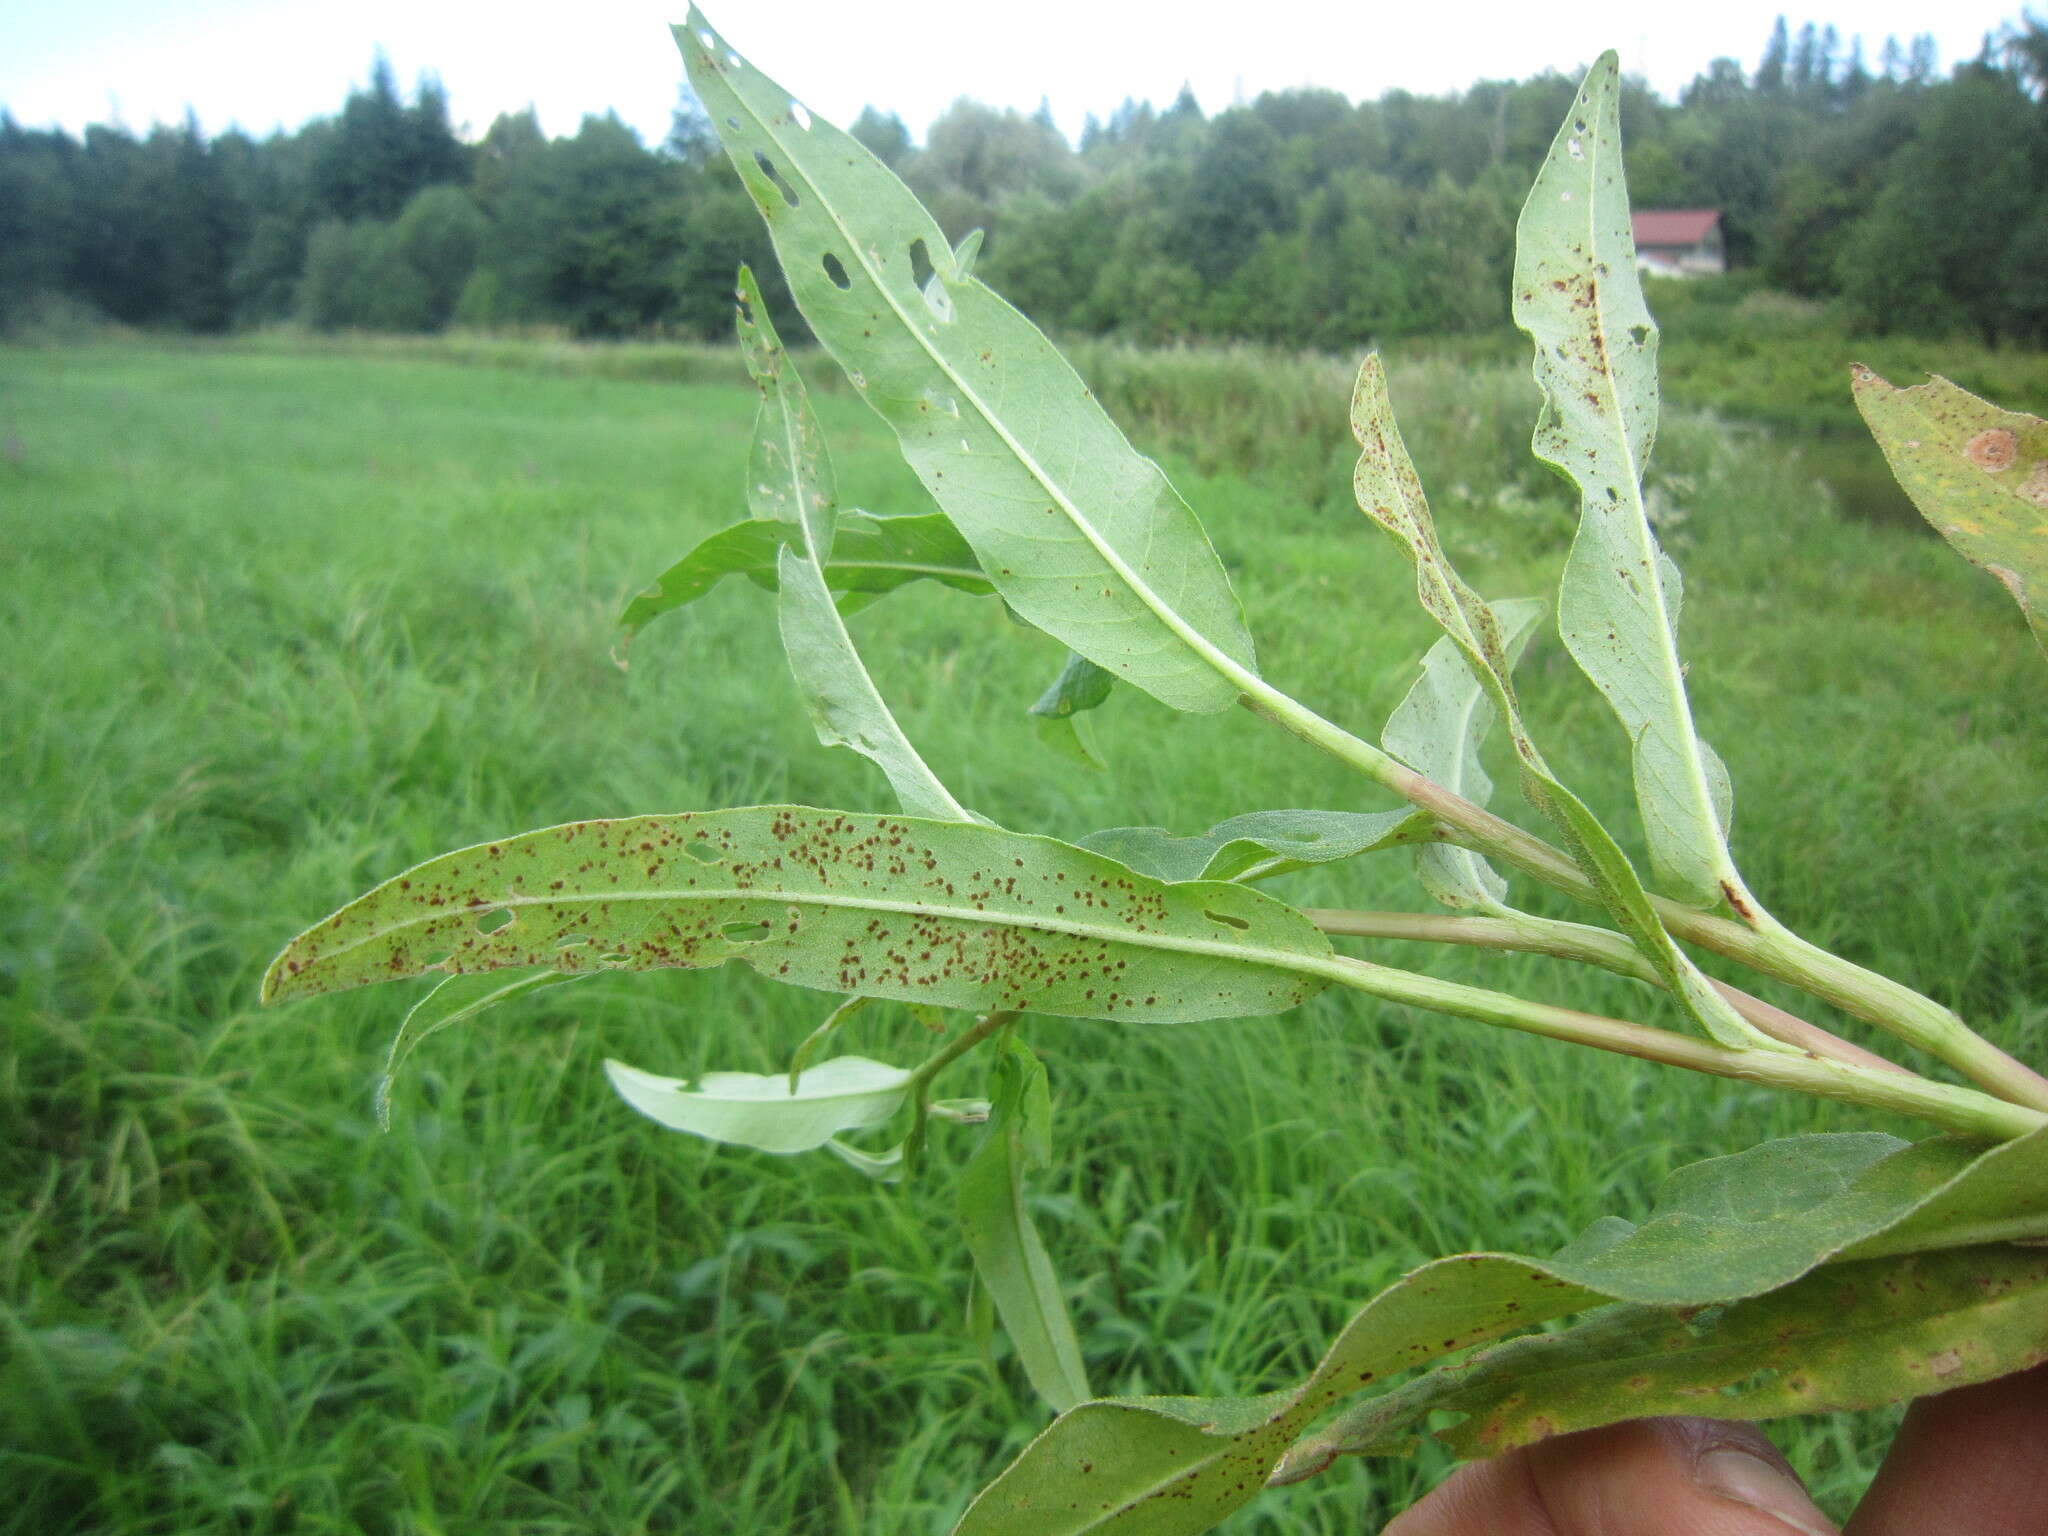
<svg viewBox="0 0 2048 1536">
<path fill-rule="evenodd" d="M 1794 1094 L 1894 1110 L 1970 1137 L 2009 1141 L 2048 1124 L 2048 1114 L 1980 1094 L 1974 1087 L 1935 1083 L 1903 1071 L 1851 1067 L 1845 1061 L 1831 1061 L 1817 1055 L 1731 1051 L 1692 1034 L 1657 1030 L 1599 1014 L 1581 1014 L 1573 1008 L 1534 1004 L 1524 997 L 1466 987 L 1456 981 L 1440 981 L 1411 971 L 1395 971 L 1341 954 L 1327 961 L 1307 961 L 1298 969 L 1327 977 L 1354 991 L 1409 1004 L 1411 1008 L 1430 1008 L 1440 1014 L 1456 1014 L 1458 1018 L 1475 1018 L 1483 1024 L 1522 1030 L 1524 1034 L 1542 1034 L 1552 1040 L 1616 1051 L 1624 1057 L 1661 1061 L 1667 1067 L 1688 1067 L 1716 1077 L 1739 1077 L 1769 1087 L 1788 1087 Z"/>
</svg>

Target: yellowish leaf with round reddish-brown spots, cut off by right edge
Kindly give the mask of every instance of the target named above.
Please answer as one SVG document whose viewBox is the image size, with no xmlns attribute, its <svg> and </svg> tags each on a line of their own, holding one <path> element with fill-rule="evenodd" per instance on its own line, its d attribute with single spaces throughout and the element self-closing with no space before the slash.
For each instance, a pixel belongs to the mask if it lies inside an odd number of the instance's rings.
<svg viewBox="0 0 2048 1536">
<path fill-rule="evenodd" d="M 1855 408 L 1913 506 L 2005 584 L 2048 649 L 2048 422 L 1939 375 L 1898 389 L 1858 367 L 1853 383 Z"/>
</svg>

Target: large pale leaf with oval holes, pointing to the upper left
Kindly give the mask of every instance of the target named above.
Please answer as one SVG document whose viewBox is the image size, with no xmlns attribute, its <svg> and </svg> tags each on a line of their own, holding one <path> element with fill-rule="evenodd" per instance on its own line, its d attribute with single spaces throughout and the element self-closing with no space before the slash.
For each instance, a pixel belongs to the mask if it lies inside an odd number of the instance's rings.
<svg viewBox="0 0 2048 1536">
<path fill-rule="evenodd" d="M 1251 639 L 1208 537 L 1047 338 L 858 141 L 803 113 L 692 10 L 676 29 L 827 352 L 1026 621 L 1178 709 L 1219 711 Z M 913 274 L 913 252 L 934 268 Z"/>
</svg>

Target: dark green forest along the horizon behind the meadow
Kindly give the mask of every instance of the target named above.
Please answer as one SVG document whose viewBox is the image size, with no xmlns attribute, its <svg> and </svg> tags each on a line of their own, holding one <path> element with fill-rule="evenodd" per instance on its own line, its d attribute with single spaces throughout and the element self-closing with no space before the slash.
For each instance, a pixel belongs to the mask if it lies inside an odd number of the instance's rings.
<svg viewBox="0 0 2048 1536">
<path fill-rule="evenodd" d="M 954 240 L 983 229 L 981 274 L 1049 328 L 1350 348 L 1505 326 L 1516 209 L 1573 88 L 1286 90 L 1214 117 L 1184 92 L 1090 119 L 1079 145 L 971 100 L 922 145 L 877 109 L 852 131 Z M 1630 190 L 1720 209 L 1731 283 L 1858 330 L 2048 344 L 2044 88 L 2032 16 L 1946 76 L 1931 39 L 1868 55 L 1780 20 L 1753 74 L 1716 59 L 1675 104 L 1630 86 Z M 657 147 L 610 115 L 549 139 L 532 113 L 465 143 L 438 84 L 408 100 L 381 59 L 338 115 L 266 139 L 0 113 L 0 332 L 57 311 L 723 336 L 741 260 L 774 270 L 688 100 Z"/>
</svg>

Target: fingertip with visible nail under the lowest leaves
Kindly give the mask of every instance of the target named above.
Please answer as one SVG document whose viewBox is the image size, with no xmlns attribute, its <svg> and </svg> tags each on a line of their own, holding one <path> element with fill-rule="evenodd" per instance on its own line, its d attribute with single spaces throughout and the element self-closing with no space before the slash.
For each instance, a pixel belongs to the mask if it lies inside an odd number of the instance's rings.
<svg viewBox="0 0 2048 1536">
<path fill-rule="evenodd" d="M 1384 1536 L 1833 1536 L 1784 1456 L 1718 1419 L 1632 1419 L 1454 1473 Z"/>
</svg>

